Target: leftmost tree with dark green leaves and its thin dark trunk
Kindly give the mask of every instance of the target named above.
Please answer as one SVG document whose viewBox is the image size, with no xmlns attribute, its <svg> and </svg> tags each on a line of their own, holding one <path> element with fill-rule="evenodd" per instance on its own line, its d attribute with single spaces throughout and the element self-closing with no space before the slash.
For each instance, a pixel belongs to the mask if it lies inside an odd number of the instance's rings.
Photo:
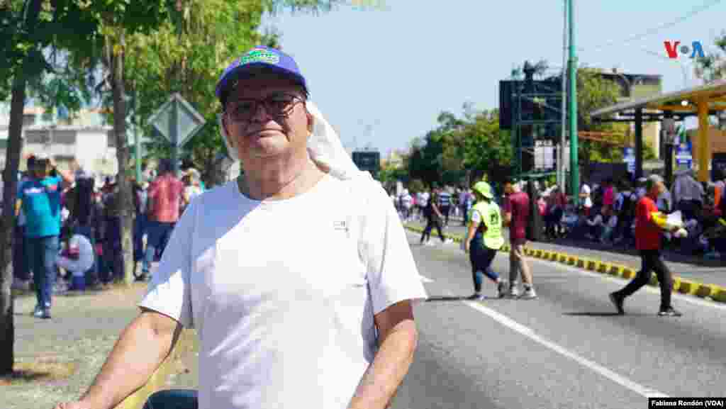
<svg viewBox="0 0 726 409">
<path fill-rule="evenodd" d="M 127 3 L 124 0 L 12 0 L 0 3 L 0 35 L 5 39 L 0 46 L 0 55 L 4 60 L 0 64 L 0 90 L 7 93 L 7 84 L 12 84 L 9 87 L 12 100 L 4 174 L 3 218 L 0 224 L 0 247 L 3 248 L 0 251 L 0 373 L 11 373 L 14 363 L 10 243 L 15 222 L 16 174 L 20 161 L 26 89 L 29 83 L 43 84 L 44 73 L 54 71 L 45 53 L 48 49 L 51 55 L 60 49 L 72 49 L 79 59 L 90 59 L 93 41 L 101 29 L 101 16 L 117 15 L 118 18 L 126 18 L 129 25 L 138 25 L 149 24 L 158 15 L 154 9 L 158 7 L 158 1 Z M 67 91 L 51 81 L 46 90 L 52 89 L 59 94 Z"/>
</svg>

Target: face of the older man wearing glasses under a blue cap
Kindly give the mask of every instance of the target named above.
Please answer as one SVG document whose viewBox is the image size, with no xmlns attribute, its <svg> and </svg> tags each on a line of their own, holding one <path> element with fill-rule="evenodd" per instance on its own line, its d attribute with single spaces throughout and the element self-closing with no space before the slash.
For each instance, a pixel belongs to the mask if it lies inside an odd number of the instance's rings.
<svg viewBox="0 0 726 409">
<path fill-rule="evenodd" d="M 258 73 L 241 80 L 224 107 L 224 126 L 240 159 L 303 153 L 312 131 L 304 101 L 300 86 L 290 79 Z"/>
</svg>

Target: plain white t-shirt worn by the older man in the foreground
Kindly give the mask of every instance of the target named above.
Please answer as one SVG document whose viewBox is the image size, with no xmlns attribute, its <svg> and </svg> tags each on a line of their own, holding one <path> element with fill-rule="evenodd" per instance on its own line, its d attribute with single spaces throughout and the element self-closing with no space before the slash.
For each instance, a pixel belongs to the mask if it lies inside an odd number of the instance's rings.
<svg viewBox="0 0 726 409">
<path fill-rule="evenodd" d="M 283 201 L 234 180 L 195 198 L 140 305 L 197 328 L 200 409 L 341 409 L 378 349 L 374 315 L 425 298 L 383 188 L 326 176 Z"/>
</svg>

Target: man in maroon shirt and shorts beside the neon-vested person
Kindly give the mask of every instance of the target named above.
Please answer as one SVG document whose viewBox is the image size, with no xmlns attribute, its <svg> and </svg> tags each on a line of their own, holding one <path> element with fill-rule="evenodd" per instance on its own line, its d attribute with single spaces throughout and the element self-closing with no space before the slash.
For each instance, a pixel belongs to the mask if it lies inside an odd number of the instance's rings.
<svg viewBox="0 0 726 409">
<path fill-rule="evenodd" d="M 504 224 L 509 226 L 509 295 L 519 296 L 517 278 L 522 273 L 524 292 L 521 298 L 535 299 L 537 293 L 532 286 L 532 273 L 524 259 L 524 244 L 527 242 L 527 221 L 529 220 L 529 195 L 522 192 L 518 185 L 507 180 L 504 185 Z"/>
</svg>

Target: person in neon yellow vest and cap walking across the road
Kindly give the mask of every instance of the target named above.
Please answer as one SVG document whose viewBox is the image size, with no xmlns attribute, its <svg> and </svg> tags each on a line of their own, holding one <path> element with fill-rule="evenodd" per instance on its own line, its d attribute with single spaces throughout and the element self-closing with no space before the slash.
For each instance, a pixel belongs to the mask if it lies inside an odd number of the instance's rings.
<svg viewBox="0 0 726 409">
<path fill-rule="evenodd" d="M 497 250 L 504 245 L 502 212 L 499 211 L 497 203 L 494 203 L 494 194 L 489 183 L 477 182 L 472 190 L 476 196 L 476 204 L 470 211 L 471 222 L 464 241 L 464 251 L 469 254 L 474 279 L 474 293 L 469 299 L 476 301 L 485 299 L 481 293 L 482 273 L 497 284 L 499 298 L 503 298 L 505 283 L 492 270 L 494 256 L 497 255 Z"/>
</svg>

